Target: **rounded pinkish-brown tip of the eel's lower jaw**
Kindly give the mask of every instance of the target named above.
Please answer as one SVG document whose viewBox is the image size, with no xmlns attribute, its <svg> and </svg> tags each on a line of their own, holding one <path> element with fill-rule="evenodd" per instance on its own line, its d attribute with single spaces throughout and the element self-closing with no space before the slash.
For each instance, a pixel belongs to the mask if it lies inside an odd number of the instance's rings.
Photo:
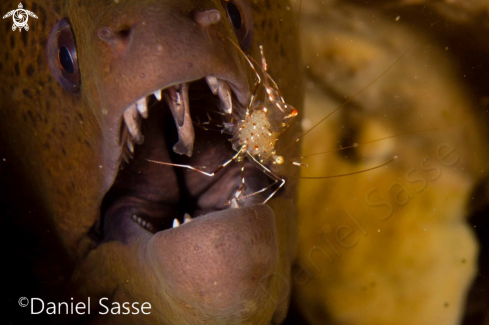
<svg viewBox="0 0 489 325">
<path fill-rule="evenodd" d="M 175 300 L 206 317 L 245 321 L 275 309 L 263 308 L 277 295 L 278 244 L 268 206 L 213 212 L 159 232 L 145 256 Z"/>
</svg>

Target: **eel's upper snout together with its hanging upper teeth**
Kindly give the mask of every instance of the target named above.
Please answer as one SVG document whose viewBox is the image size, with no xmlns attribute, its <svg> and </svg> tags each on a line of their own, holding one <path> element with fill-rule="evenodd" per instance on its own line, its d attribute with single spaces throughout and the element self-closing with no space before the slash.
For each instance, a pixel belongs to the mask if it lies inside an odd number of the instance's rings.
<svg viewBox="0 0 489 325">
<path fill-rule="evenodd" d="M 175 152 L 191 156 L 189 84 L 206 80 L 221 99 L 222 110 L 240 115 L 236 111 L 248 105 L 256 82 L 244 53 L 233 44 L 236 35 L 219 4 L 185 0 L 159 1 L 144 8 L 133 2 L 114 6 L 117 10 L 97 17 L 87 46 L 95 51 L 87 53 L 90 65 L 82 67 L 84 74 L 96 76 L 92 79 L 100 99 L 97 114 L 104 133 L 107 184 L 121 160 L 121 122 L 130 133 L 131 149 L 144 141 L 139 129 L 141 119 L 148 117 L 148 96 L 169 102 L 181 136 Z M 126 137 L 122 138 L 124 145 Z"/>
</svg>

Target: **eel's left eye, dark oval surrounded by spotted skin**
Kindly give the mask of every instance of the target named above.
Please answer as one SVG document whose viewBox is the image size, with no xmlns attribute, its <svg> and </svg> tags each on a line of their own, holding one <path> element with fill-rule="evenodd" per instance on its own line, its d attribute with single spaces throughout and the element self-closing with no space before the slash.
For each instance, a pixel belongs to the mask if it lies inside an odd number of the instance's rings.
<svg viewBox="0 0 489 325">
<path fill-rule="evenodd" d="M 59 84 L 72 93 L 79 92 L 80 70 L 75 37 L 67 19 L 61 19 L 51 29 L 47 55 L 49 69 Z"/>
</svg>

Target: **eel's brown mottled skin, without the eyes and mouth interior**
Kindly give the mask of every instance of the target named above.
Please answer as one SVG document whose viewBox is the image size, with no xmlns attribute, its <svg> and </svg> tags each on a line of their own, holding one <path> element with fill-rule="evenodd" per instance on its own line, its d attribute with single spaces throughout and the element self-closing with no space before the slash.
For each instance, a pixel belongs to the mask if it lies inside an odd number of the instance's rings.
<svg viewBox="0 0 489 325">
<path fill-rule="evenodd" d="M 258 45 L 263 44 L 270 74 L 286 101 L 301 111 L 297 19 L 283 1 L 250 4 L 254 38 L 248 53 L 258 59 Z M 39 216 L 47 216 L 55 226 L 75 269 L 64 276 L 74 280 L 82 296 L 90 296 L 92 302 L 109 297 L 152 305 L 151 315 L 145 317 L 92 315 L 87 321 L 281 323 L 296 246 L 293 178 L 269 202 L 273 214 L 266 206 L 215 212 L 154 235 L 124 219 L 121 225 L 132 231 L 125 241 L 97 242 L 89 236 L 119 170 L 124 108 L 156 88 L 210 73 L 232 82 L 239 101 L 247 101 L 254 74 L 228 40 L 237 42 L 230 22 L 223 18 L 202 31 L 190 14 L 216 8 L 226 17 L 220 1 L 39 0 L 23 5 L 39 17 L 29 20 L 30 30 L 12 32 L 11 19 L 2 21 L 0 28 L 2 151 L 41 202 Z M 18 0 L 2 1 L 0 12 L 17 6 Z M 49 31 L 62 18 L 70 20 L 76 39 L 78 94 L 64 90 L 47 65 Z M 130 48 L 113 49 L 98 38 L 97 31 L 107 26 L 130 28 Z M 158 52 L 157 43 L 171 46 Z M 298 122 L 282 136 L 282 143 L 298 132 Z M 288 154 L 297 155 L 294 150 Z M 296 172 L 289 167 L 280 171 Z"/>
</svg>

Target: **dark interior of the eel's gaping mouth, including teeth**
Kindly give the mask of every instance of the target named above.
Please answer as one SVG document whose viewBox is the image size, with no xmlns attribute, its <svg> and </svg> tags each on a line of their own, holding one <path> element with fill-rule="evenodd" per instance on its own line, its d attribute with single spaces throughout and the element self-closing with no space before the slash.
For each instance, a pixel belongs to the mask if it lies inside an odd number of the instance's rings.
<svg viewBox="0 0 489 325">
<path fill-rule="evenodd" d="M 245 111 L 228 83 L 214 77 L 157 90 L 130 105 L 121 126 L 121 170 L 101 207 L 104 239 L 126 238 L 127 220 L 156 233 L 229 208 L 241 186 L 242 166 L 245 199 L 240 206 L 263 202 L 265 194 L 246 194 L 272 180 L 246 159 L 214 177 L 148 161 L 212 173 L 236 154 L 230 139 Z"/>
</svg>

